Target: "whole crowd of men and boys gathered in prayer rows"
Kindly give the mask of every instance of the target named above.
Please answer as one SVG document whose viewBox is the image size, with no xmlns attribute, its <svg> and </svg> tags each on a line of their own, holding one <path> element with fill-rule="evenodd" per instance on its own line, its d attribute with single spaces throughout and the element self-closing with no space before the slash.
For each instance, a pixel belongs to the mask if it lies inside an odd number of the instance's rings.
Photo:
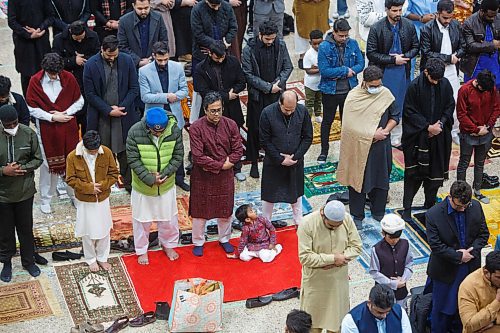
<svg viewBox="0 0 500 333">
<path fill-rule="evenodd" d="M 110 269 L 109 196 L 118 180 L 130 193 L 138 263 L 149 264 L 152 222 L 166 256 L 178 260 L 179 187 L 190 191 L 192 253 L 199 257 L 206 222 L 217 219 L 229 258 L 274 260 L 283 247 L 271 222 L 273 206 L 291 205 L 303 311 L 290 314 L 288 332 L 410 332 L 405 309 L 413 257 L 401 234 L 423 186 L 431 331 L 460 332 L 463 323 L 464 332 L 494 332 L 500 255 L 488 255 L 480 268 L 489 232 L 479 202 L 489 203 L 480 192 L 485 182 L 498 186 L 498 177 L 483 172 L 500 126 L 498 0 L 483 0 L 474 13 L 471 4 L 451 0 L 362 0 L 356 3 L 360 41 L 349 36 L 345 1 L 328 30 L 329 3 L 294 1 L 301 103 L 286 89 L 294 66 L 283 39 L 283 0 L 255 0 L 248 27 L 247 4 L 240 0 L 10 0 L 22 95 L 0 76 L 0 279 L 12 278 L 16 232 L 22 266 L 40 274 L 37 263 L 44 259 L 35 252 L 32 231 L 36 169 L 42 213 L 52 213 L 57 186 L 66 185 L 77 211 L 75 236 L 82 238 L 91 271 Z M 471 10 L 463 22 L 454 19 L 457 7 Z M 247 32 L 253 38 L 245 40 Z M 190 75 L 187 117 L 181 101 Z M 240 102 L 245 89 L 246 115 Z M 332 155 L 337 109 L 337 181 L 348 186 L 349 212 L 334 200 L 303 218 L 313 122 L 321 123 L 316 162 L 322 164 Z M 189 135 L 189 153 L 183 135 Z M 460 146 L 457 181 L 436 204 L 453 142 Z M 403 151 L 405 162 L 401 217 L 386 215 L 393 148 Z M 235 179 L 246 180 L 242 160 L 250 164 L 250 177 L 262 173 L 263 208 L 261 216 L 249 205 L 236 210 L 242 237 L 235 249 L 229 240 Z M 349 311 L 348 263 L 361 252 L 368 201 L 382 229 L 369 269 L 376 285 L 367 302 Z"/>
</svg>

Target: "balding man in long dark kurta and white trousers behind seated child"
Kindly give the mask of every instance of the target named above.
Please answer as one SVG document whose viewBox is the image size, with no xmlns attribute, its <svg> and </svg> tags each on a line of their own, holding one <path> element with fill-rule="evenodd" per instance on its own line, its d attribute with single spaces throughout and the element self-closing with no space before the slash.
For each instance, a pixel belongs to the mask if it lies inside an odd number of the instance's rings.
<svg viewBox="0 0 500 333">
<path fill-rule="evenodd" d="M 285 91 L 279 102 L 262 110 L 260 144 L 266 152 L 262 168 L 262 213 L 271 221 L 274 204 L 292 205 L 295 225 L 302 221 L 304 155 L 311 146 L 313 130 L 305 106 L 297 104 L 294 91 Z"/>
</svg>

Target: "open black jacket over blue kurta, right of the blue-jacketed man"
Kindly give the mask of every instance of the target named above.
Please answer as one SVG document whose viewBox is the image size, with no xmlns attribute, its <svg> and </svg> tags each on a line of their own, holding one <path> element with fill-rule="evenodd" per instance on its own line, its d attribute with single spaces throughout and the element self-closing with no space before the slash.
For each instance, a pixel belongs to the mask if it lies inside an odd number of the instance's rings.
<svg viewBox="0 0 500 333">
<path fill-rule="evenodd" d="M 405 17 L 401 18 L 399 36 L 401 50 L 405 58 L 414 58 L 418 54 L 418 37 L 413 23 Z M 387 65 L 394 65 L 396 57 L 389 55 L 392 47 L 393 33 L 389 20 L 384 17 L 372 25 L 366 41 L 366 57 L 369 65 L 376 65 L 382 70 Z M 406 63 L 406 77 L 410 77 L 410 61 Z"/>
</svg>

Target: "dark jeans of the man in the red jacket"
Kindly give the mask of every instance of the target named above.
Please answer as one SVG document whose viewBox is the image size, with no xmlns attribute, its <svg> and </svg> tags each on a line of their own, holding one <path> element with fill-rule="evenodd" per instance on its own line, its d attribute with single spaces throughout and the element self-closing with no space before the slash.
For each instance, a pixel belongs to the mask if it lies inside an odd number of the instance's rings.
<svg viewBox="0 0 500 333">
<path fill-rule="evenodd" d="M 457 180 L 465 180 L 467 168 L 469 167 L 472 153 L 474 153 L 474 182 L 472 183 L 472 188 L 479 191 L 483 182 L 484 161 L 486 160 L 489 147 L 491 147 L 491 140 L 483 145 L 472 146 L 464 136 L 460 135 L 460 160 L 457 166 Z"/>
</svg>

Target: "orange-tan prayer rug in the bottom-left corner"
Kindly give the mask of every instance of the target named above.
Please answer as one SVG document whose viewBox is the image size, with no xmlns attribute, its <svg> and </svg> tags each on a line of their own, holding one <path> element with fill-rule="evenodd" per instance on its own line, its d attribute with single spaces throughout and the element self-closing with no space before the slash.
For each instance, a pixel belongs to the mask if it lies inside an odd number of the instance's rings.
<svg viewBox="0 0 500 333">
<path fill-rule="evenodd" d="M 38 278 L 0 287 L 0 324 L 59 315 L 49 281 Z"/>
</svg>

